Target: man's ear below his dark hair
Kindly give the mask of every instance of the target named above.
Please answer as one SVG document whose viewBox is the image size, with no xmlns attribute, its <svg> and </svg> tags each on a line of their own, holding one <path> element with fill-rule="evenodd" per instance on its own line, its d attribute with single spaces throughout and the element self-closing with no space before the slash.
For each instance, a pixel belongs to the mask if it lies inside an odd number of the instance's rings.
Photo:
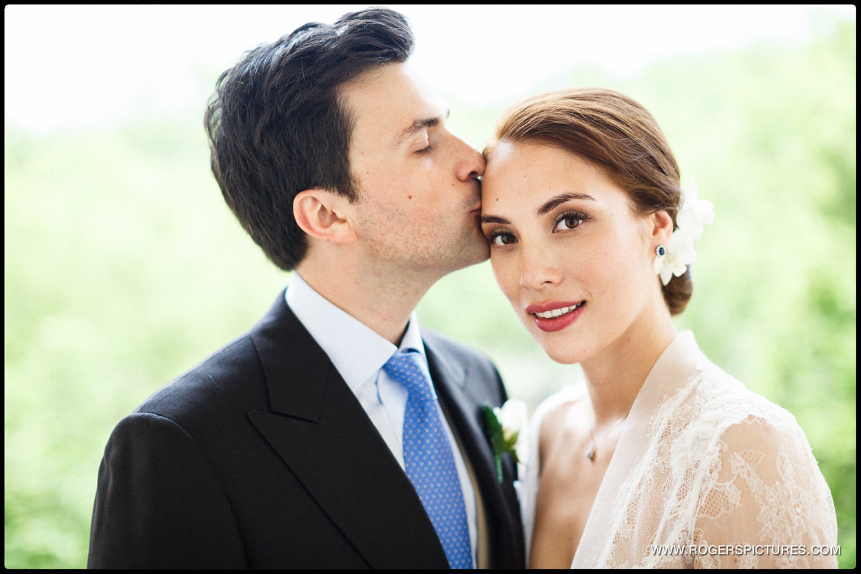
<svg viewBox="0 0 861 574">
<path fill-rule="evenodd" d="M 302 231 L 314 239 L 350 243 L 356 240 L 356 229 L 350 221 L 349 204 L 346 196 L 313 188 L 294 197 L 293 215 Z"/>
</svg>

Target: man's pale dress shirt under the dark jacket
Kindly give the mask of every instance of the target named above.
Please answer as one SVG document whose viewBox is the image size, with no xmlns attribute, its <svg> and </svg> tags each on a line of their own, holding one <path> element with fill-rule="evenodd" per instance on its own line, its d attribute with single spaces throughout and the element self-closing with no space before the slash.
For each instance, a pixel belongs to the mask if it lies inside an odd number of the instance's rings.
<svg viewBox="0 0 861 574">
<path fill-rule="evenodd" d="M 379 431 L 382 440 L 386 442 L 400 467 L 404 468 L 403 433 L 407 392 L 403 385 L 383 371 L 382 366 L 399 349 L 412 348 L 421 355 L 421 361 L 419 361 L 421 369 L 427 380 L 431 381 L 431 372 L 428 370 L 424 343 L 418 331 L 415 311 L 410 315 L 406 333 L 400 341 L 400 347 L 397 347 L 352 315 L 338 309 L 313 290 L 296 271 L 293 271 L 285 298 L 294 315 L 325 351 L 332 365 L 338 369 L 338 373 L 344 378 L 344 382 L 356 395 L 362 404 L 362 409 L 365 409 L 371 422 Z M 432 384 L 431 393 L 434 396 L 437 395 Z M 437 409 L 439 409 L 438 402 Z M 449 422 L 442 411 L 440 416 L 443 419 L 443 427 L 449 434 L 452 454 L 455 455 L 457 477 L 461 482 L 463 502 L 467 510 L 469 540 L 473 550 L 473 565 L 475 565 L 478 540 L 475 493 L 461 450 L 457 446 L 454 435 L 451 434 Z"/>
</svg>

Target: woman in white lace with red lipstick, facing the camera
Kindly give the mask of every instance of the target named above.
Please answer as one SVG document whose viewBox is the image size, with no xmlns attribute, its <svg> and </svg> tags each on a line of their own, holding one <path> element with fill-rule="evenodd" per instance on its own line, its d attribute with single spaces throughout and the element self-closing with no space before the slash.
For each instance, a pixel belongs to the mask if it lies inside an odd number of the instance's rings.
<svg viewBox="0 0 861 574">
<path fill-rule="evenodd" d="M 673 326 L 711 205 L 680 188 L 653 117 L 559 90 L 510 109 L 485 153 L 499 286 L 585 377 L 533 419 L 530 566 L 836 567 L 833 500 L 794 417 Z"/>
</svg>

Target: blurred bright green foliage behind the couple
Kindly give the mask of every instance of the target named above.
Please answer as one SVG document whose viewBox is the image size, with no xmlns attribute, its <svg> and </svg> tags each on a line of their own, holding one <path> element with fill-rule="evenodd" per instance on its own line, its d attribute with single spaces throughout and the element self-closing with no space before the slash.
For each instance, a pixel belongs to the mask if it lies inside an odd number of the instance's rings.
<svg viewBox="0 0 861 574">
<path fill-rule="evenodd" d="M 803 46 L 674 57 L 634 78 L 574 69 L 523 96 L 604 85 L 660 122 L 715 224 L 678 328 L 796 415 L 830 485 L 839 564 L 856 564 L 856 24 Z M 205 101 L 219 71 L 201 74 Z M 517 82 L 517 78 L 511 78 Z M 502 107 L 452 100 L 481 147 Z M 108 434 L 154 390 L 245 332 L 288 283 L 220 197 L 201 116 L 110 131 L 4 128 L 4 563 L 86 564 Z M 534 409 L 579 376 L 515 320 L 488 263 L 418 309 L 489 355 Z"/>
</svg>

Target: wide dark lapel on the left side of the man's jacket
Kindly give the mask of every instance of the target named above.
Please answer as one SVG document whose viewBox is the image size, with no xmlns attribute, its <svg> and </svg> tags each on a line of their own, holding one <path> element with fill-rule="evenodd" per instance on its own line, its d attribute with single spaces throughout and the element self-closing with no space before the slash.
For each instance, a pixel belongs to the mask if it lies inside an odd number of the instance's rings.
<svg viewBox="0 0 861 574">
<path fill-rule="evenodd" d="M 251 337 L 271 412 L 249 418 L 331 521 L 373 568 L 448 568 L 406 474 L 283 296 Z"/>
</svg>

